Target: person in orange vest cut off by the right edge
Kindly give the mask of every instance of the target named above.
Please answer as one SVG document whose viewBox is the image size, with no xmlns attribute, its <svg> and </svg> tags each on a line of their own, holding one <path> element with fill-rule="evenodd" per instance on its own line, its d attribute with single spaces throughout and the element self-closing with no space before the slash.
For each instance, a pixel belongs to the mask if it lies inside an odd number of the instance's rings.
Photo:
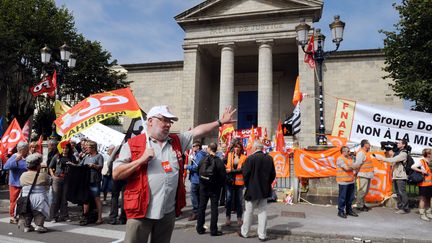
<svg viewBox="0 0 432 243">
<path fill-rule="evenodd" d="M 432 197 L 432 171 L 429 166 L 432 161 L 432 149 L 427 148 L 422 151 L 423 158 L 416 161 L 411 169 L 420 172 L 424 176 L 424 180 L 418 184 L 419 186 L 419 213 L 420 219 L 430 221 L 432 219 L 432 208 L 430 200 Z"/>
</svg>

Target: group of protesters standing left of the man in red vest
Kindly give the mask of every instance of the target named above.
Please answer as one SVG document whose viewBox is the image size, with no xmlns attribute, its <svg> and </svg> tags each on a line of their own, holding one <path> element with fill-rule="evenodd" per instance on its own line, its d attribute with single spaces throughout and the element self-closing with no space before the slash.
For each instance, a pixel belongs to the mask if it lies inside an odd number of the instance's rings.
<svg viewBox="0 0 432 243">
<path fill-rule="evenodd" d="M 64 144 L 59 152 L 57 140 L 50 139 L 45 161 L 38 152 L 38 146 L 36 142 L 19 142 L 3 165 L 3 171 L 8 172 L 9 178 L 10 223 L 18 224 L 24 232 L 46 232 L 44 222 L 47 220 L 52 223 L 72 221 L 68 202 L 82 206 L 80 225 L 103 223 L 100 195 L 103 192 L 106 200 L 107 193 L 112 189 L 114 157 L 111 155 L 115 146 L 110 146 L 107 154 L 102 156 L 96 142 L 82 139 L 79 143 Z M 112 197 L 115 201 L 112 205 L 116 208 L 111 209 L 109 223 L 125 224 L 124 213 L 120 221 L 116 220 L 121 207 L 118 201 L 122 188 L 116 189 Z M 29 199 L 30 213 L 16 211 L 20 197 Z M 32 220 L 36 227 L 32 226 Z"/>
</svg>

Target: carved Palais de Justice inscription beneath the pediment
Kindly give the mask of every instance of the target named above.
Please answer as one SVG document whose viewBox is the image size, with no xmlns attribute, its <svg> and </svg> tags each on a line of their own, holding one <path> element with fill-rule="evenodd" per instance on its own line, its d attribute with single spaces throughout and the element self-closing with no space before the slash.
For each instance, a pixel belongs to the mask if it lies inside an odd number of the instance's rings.
<svg viewBox="0 0 432 243">
<path fill-rule="evenodd" d="M 283 28 L 282 23 L 211 27 L 210 35 L 262 32 L 262 31 L 280 30 L 282 28 Z"/>
</svg>

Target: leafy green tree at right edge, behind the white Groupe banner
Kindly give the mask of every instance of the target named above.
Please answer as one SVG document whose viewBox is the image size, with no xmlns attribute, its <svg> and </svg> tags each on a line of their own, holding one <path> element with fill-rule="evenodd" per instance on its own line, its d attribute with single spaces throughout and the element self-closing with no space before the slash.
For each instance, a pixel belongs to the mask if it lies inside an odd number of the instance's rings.
<svg viewBox="0 0 432 243">
<path fill-rule="evenodd" d="M 415 101 L 415 110 L 432 112 L 432 4 L 402 0 L 396 31 L 382 31 L 386 67 L 396 95 Z"/>
</svg>

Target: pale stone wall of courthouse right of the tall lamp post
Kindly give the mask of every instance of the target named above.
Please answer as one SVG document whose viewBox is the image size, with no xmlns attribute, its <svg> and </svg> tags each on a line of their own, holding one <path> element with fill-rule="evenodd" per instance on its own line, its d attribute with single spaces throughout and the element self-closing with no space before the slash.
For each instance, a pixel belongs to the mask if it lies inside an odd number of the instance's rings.
<svg viewBox="0 0 432 243">
<path fill-rule="evenodd" d="M 336 52 L 324 63 L 324 111 L 326 131 L 331 133 L 336 97 L 362 103 L 403 108 L 386 75 L 384 56 L 378 50 Z"/>
</svg>

